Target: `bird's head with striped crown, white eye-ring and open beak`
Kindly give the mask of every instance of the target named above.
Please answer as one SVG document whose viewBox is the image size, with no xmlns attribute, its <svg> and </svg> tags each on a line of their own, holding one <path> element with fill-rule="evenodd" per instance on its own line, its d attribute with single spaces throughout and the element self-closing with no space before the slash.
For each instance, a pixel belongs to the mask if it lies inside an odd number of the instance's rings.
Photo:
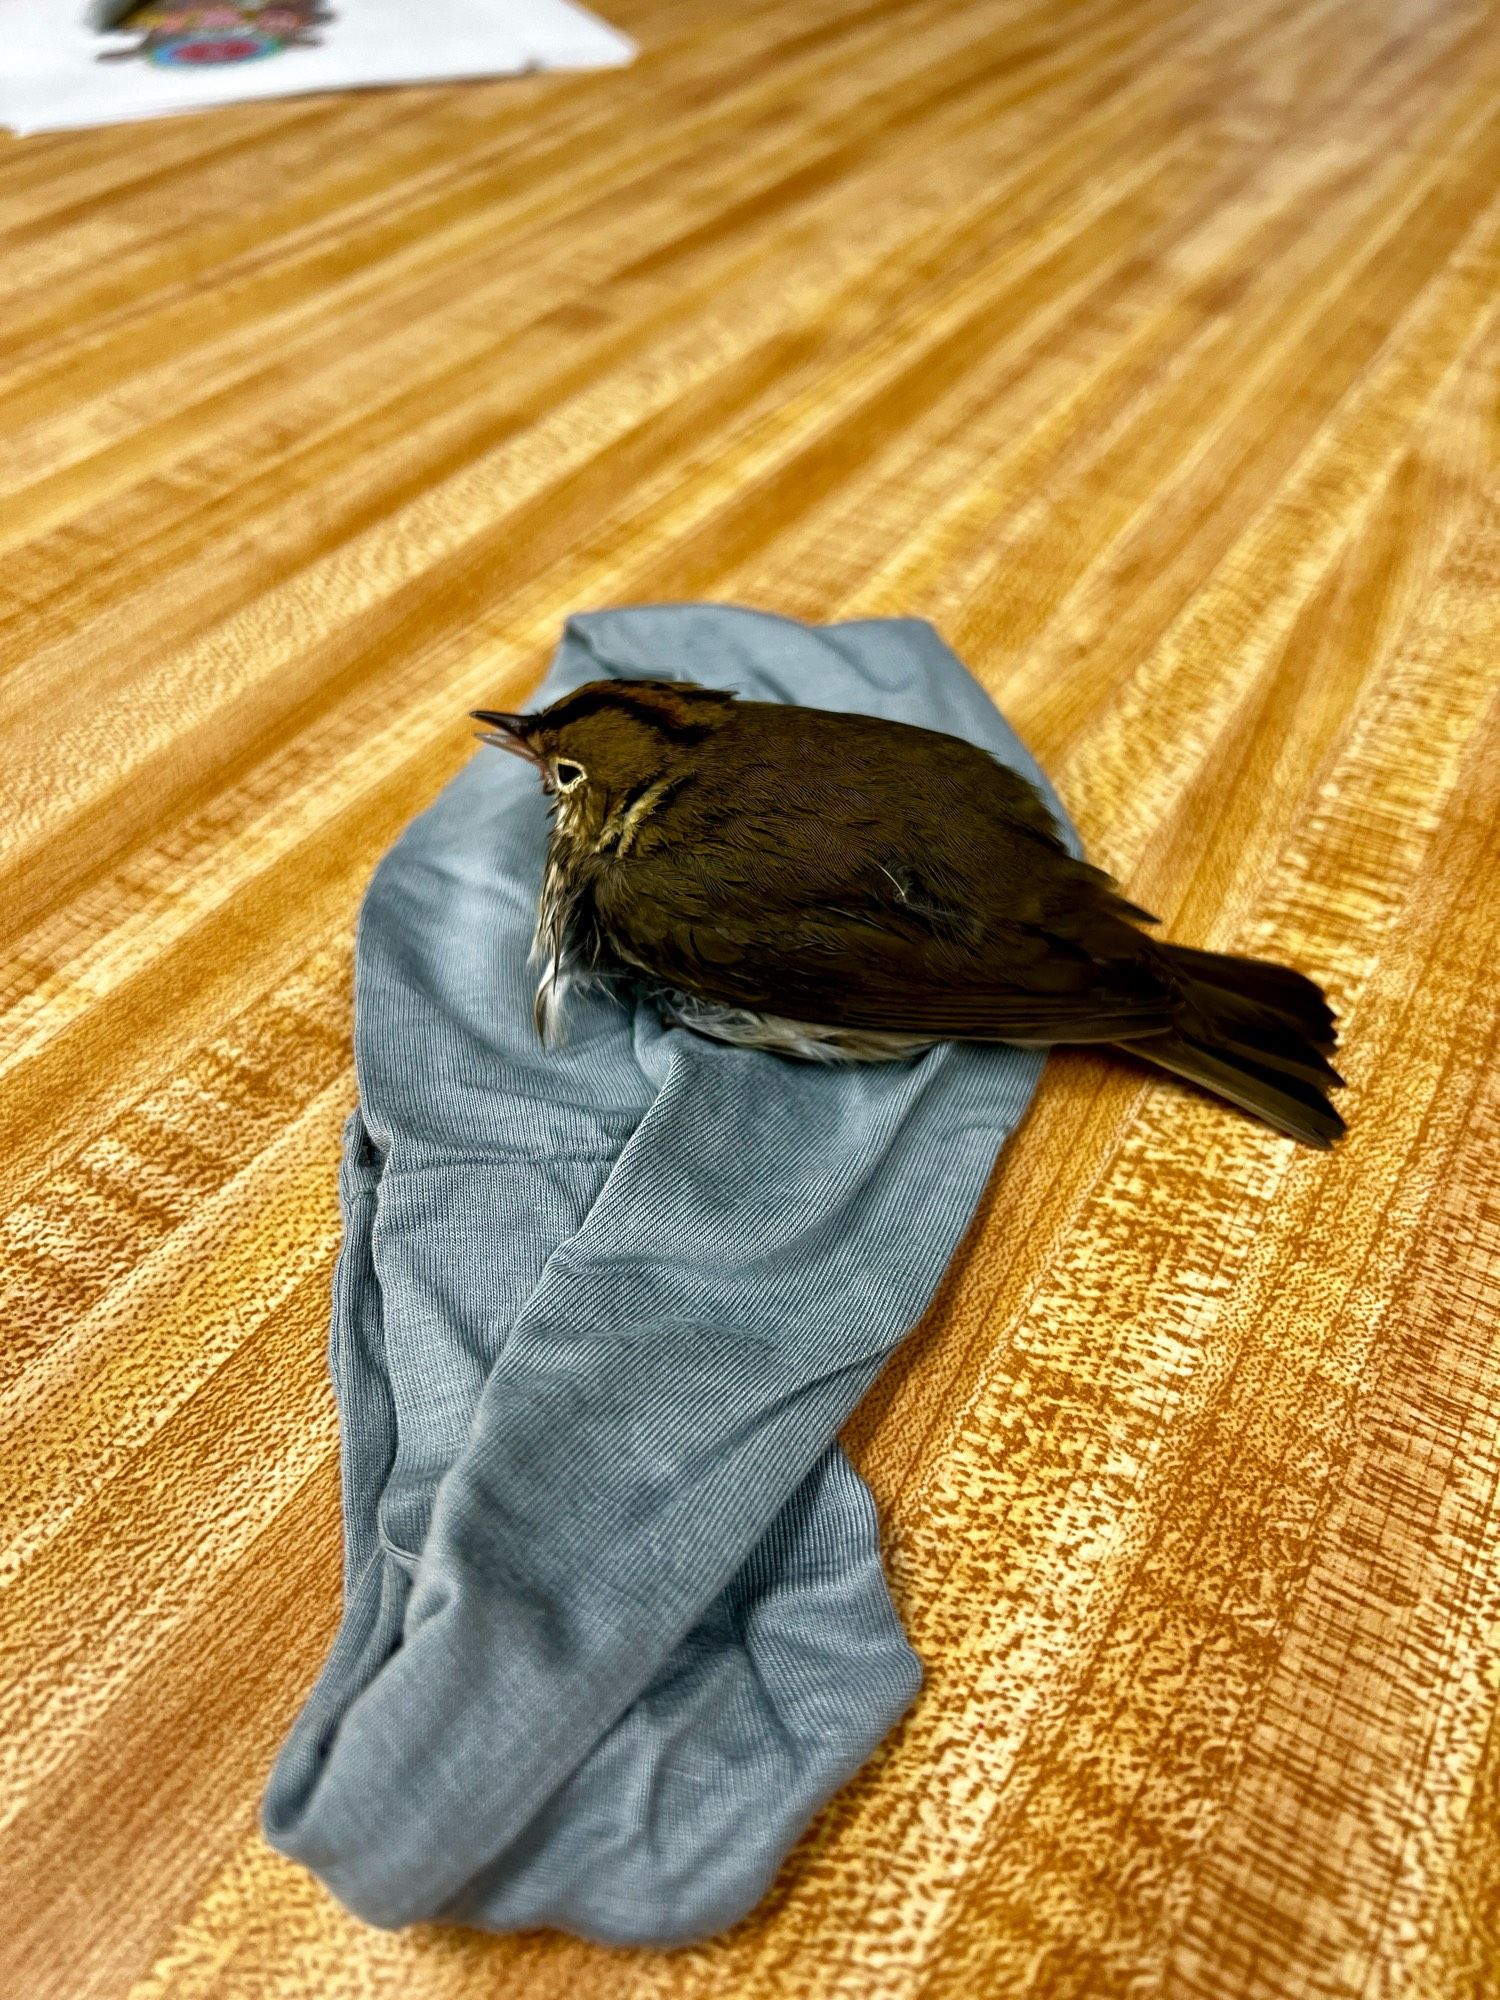
<svg viewBox="0 0 1500 2000">
<path fill-rule="evenodd" d="M 686 680 L 590 680 L 528 716 L 474 708 L 480 740 L 536 766 L 556 832 L 594 854 L 624 854 L 644 822 L 696 772 L 734 696 Z"/>
</svg>

